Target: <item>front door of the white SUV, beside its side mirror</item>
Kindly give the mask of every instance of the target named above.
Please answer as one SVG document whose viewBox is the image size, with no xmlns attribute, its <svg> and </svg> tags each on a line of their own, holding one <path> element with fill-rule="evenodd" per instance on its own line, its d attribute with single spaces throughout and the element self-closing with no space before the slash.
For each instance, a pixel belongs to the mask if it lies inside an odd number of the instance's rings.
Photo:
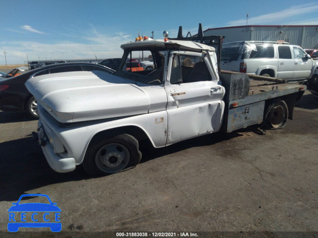
<svg viewBox="0 0 318 238">
<path fill-rule="evenodd" d="M 293 79 L 307 79 L 313 68 L 313 60 L 306 58 L 307 53 L 300 47 L 293 46 L 294 76 Z"/>
</svg>

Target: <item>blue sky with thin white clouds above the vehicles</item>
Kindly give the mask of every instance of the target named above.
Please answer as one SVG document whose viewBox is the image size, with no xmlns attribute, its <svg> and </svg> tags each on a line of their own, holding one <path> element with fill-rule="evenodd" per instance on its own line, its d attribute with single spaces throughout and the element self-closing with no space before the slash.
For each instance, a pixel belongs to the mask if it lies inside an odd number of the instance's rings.
<svg viewBox="0 0 318 238">
<path fill-rule="evenodd" d="M 317 0 L 0 0 L 0 65 L 120 58 L 140 35 L 215 27 L 318 25 Z M 93 52 L 92 52 L 92 50 Z M 3 52 L 6 52 L 4 54 Z"/>
</svg>

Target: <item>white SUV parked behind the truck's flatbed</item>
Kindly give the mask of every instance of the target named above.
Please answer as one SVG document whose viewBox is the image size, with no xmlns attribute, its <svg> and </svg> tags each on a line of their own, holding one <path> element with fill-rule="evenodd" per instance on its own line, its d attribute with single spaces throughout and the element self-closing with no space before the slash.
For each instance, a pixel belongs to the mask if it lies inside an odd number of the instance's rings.
<svg viewBox="0 0 318 238">
<path fill-rule="evenodd" d="M 222 46 L 221 69 L 281 79 L 311 79 L 318 61 L 287 42 L 240 41 Z"/>
</svg>

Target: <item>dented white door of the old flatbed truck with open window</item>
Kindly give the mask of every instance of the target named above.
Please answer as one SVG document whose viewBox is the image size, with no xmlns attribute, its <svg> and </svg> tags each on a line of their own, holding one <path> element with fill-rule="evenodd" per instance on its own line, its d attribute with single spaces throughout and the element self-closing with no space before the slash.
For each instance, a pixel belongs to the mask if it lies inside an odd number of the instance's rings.
<svg viewBox="0 0 318 238">
<path fill-rule="evenodd" d="M 224 88 L 212 80 L 208 59 L 171 54 L 165 91 L 168 134 L 166 144 L 220 130 Z M 199 57 L 200 56 L 200 57 Z"/>
</svg>

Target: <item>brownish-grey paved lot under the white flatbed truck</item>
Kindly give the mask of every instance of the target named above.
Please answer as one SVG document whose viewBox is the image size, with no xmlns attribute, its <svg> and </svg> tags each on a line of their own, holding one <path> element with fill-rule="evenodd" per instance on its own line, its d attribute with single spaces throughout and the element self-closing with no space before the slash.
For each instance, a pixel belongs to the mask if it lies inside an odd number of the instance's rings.
<svg viewBox="0 0 318 238">
<path fill-rule="evenodd" d="M 52 171 L 31 138 L 36 123 L 22 112 L 0 112 L 0 236 L 8 235 L 11 203 L 26 193 L 47 194 L 58 204 L 65 236 L 97 231 L 318 236 L 318 98 L 308 91 L 284 129 L 263 136 L 254 128 L 216 133 L 146 150 L 136 168 L 98 178 L 80 167 Z M 18 234 L 22 231 L 34 229 Z"/>
</svg>

